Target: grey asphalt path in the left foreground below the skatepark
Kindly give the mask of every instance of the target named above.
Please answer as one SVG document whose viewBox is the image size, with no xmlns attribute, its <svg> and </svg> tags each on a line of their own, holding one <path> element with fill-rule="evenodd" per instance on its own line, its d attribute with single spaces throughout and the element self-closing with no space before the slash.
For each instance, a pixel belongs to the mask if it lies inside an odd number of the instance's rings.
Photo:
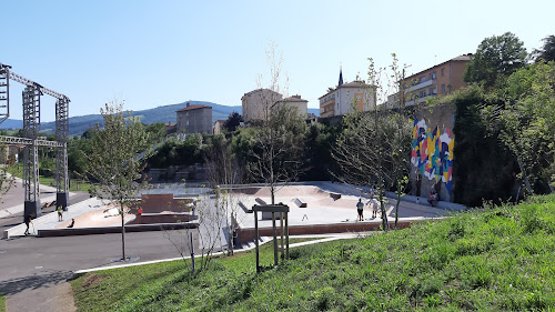
<svg viewBox="0 0 555 312">
<path fill-rule="evenodd" d="M 179 240 L 184 232 L 125 233 L 127 256 L 137 262 L 180 256 L 168 234 Z M 121 234 L 0 240 L 0 293 L 8 311 L 59 311 L 57 288 L 73 271 L 114 265 L 120 258 Z"/>
</svg>

